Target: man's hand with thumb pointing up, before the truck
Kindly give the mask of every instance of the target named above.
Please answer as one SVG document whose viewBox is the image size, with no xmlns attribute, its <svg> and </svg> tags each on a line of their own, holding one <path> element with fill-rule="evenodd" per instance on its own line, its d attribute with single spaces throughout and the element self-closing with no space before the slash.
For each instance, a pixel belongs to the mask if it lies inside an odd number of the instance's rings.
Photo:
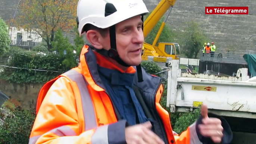
<svg viewBox="0 0 256 144">
<path fill-rule="evenodd" d="M 223 137 L 223 127 L 221 120 L 218 118 L 208 117 L 208 108 L 206 105 L 202 105 L 201 110 L 203 124 L 199 125 L 199 131 L 204 137 L 210 137 L 214 143 L 221 143 Z"/>
</svg>

